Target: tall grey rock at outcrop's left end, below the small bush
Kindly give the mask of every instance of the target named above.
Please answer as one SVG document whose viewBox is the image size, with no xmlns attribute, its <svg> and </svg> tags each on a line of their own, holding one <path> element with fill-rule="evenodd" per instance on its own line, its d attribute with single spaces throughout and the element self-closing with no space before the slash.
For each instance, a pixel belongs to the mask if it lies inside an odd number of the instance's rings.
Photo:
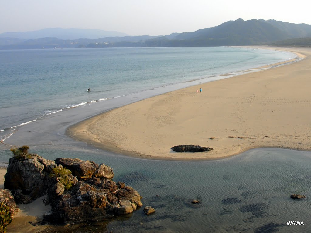
<svg viewBox="0 0 311 233">
<path fill-rule="evenodd" d="M 48 187 L 55 183 L 48 175 L 50 169 L 56 166 L 54 161 L 43 159 L 36 154 L 22 159 L 12 157 L 4 176 L 4 187 L 12 191 L 17 204 L 29 203 L 46 194 Z"/>
</svg>

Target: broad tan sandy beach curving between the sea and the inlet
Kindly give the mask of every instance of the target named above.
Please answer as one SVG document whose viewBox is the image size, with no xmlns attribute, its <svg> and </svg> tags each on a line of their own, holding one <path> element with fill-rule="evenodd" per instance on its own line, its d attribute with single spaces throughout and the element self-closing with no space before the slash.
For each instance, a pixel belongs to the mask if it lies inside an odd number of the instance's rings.
<svg viewBox="0 0 311 233">
<path fill-rule="evenodd" d="M 310 150 L 311 48 L 268 49 L 304 59 L 132 103 L 78 123 L 67 133 L 105 150 L 151 159 L 217 159 L 258 147 Z M 200 88 L 202 93 L 196 93 Z M 183 144 L 213 151 L 170 149 Z"/>
</svg>

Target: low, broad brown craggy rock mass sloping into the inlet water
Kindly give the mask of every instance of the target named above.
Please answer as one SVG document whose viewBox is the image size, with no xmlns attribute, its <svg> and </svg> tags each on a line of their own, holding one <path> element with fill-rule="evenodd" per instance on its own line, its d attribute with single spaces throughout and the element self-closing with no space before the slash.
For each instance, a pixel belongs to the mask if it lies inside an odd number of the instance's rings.
<svg viewBox="0 0 311 233">
<path fill-rule="evenodd" d="M 119 189 L 110 179 L 79 181 L 51 202 L 52 214 L 45 219 L 57 224 L 100 221 L 112 215 L 132 213 L 142 206 L 141 197 L 130 186 Z"/>
</svg>

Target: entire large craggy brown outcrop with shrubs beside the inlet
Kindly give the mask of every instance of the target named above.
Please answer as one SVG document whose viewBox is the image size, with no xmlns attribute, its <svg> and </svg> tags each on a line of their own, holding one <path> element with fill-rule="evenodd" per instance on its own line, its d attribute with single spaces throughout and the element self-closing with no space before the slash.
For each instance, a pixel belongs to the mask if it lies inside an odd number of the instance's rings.
<svg viewBox="0 0 311 233">
<path fill-rule="evenodd" d="M 113 177 L 112 168 L 105 164 L 70 158 L 52 161 L 28 154 L 9 160 L 5 187 L 19 203 L 47 194 L 44 204 L 52 208 L 44 221 L 72 224 L 132 213 L 142 206 L 139 193 L 112 181 Z"/>
</svg>

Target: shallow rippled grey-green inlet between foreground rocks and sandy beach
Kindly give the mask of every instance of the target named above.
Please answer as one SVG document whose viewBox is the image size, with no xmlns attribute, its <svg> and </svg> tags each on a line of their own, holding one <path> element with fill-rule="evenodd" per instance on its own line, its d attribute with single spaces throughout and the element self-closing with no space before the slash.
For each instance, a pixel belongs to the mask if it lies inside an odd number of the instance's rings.
<svg viewBox="0 0 311 233">
<path fill-rule="evenodd" d="M 146 216 L 142 207 L 82 232 L 311 231 L 310 199 L 290 198 L 292 193 L 311 196 L 310 152 L 262 148 L 203 162 L 136 159 L 97 149 L 31 152 L 47 159 L 91 159 L 109 165 L 114 181 L 132 186 L 143 196 L 143 207 L 156 209 Z M 2 151 L 0 161 L 10 156 Z M 200 203 L 191 204 L 193 199 Z M 287 226 L 286 221 L 303 221 L 304 226 Z"/>
</svg>

